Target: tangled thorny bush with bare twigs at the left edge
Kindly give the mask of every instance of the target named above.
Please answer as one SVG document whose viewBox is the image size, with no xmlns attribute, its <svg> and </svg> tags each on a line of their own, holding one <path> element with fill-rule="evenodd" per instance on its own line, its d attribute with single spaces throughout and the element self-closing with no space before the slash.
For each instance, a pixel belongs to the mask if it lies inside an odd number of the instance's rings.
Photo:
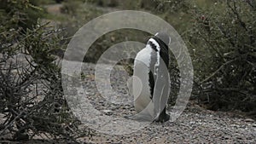
<svg viewBox="0 0 256 144">
<path fill-rule="evenodd" d="M 71 131 L 76 131 L 78 123 L 63 97 L 61 72 L 53 55 L 64 46 L 61 35 L 47 25 L 35 23 L 37 20 L 25 31 L 19 25 L 23 17 L 16 16 L 39 8 L 26 0 L 6 3 L 1 17 L 11 20 L 2 20 L 0 28 L 1 138 L 26 141 L 47 134 L 72 139 Z M 11 5 L 20 9 L 9 11 Z"/>
</svg>

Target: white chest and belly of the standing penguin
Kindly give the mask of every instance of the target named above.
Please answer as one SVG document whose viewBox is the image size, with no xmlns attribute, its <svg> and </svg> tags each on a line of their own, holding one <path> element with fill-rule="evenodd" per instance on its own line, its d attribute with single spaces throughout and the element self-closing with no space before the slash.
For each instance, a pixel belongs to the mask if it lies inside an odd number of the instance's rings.
<svg viewBox="0 0 256 144">
<path fill-rule="evenodd" d="M 143 111 L 149 102 L 152 102 L 149 86 L 149 67 L 152 50 L 147 45 L 146 48 L 137 53 L 134 61 L 132 92 L 134 95 L 134 106 L 137 112 Z"/>
</svg>

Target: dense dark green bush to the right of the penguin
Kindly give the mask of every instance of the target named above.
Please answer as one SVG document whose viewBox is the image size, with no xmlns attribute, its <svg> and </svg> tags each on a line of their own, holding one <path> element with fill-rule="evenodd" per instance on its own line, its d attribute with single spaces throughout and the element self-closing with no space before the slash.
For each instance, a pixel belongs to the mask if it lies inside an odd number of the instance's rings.
<svg viewBox="0 0 256 144">
<path fill-rule="evenodd" d="M 187 39 L 201 101 L 213 110 L 256 110 L 255 10 L 254 1 L 219 1 L 192 11 Z"/>
</svg>

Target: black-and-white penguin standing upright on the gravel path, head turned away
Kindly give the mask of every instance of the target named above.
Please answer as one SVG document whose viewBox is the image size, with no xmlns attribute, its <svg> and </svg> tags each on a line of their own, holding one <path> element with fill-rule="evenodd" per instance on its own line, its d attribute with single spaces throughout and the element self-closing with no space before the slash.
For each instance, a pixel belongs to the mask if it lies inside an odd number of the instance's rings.
<svg viewBox="0 0 256 144">
<path fill-rule="evenodd" d="M 134 60 L 132 93 L 137 118 L 155 122 L 166 122 L 166 103 L 170 94 L 168 72 L 171 37 L 158 32 L 148 39 Z"/>
</svg>

